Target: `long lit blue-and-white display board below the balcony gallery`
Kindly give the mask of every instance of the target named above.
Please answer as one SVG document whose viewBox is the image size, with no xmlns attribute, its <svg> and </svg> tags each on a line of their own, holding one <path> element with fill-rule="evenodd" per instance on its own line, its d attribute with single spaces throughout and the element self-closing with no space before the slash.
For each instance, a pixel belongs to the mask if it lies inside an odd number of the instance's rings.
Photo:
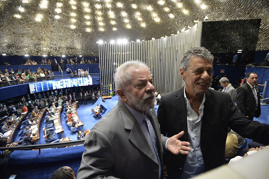
<svg viewBox="0 0 269 179">
<path fill-rule="evenodd" d="M 92 85 L 92 77 L 72 78 L 72 79 L 57 79 L 50 81 L 41 81 L 30 83 L 30 93 L 43 92 L 48 90 L 57 90 L 69 87 L 80 87 Z"/>
</svg>

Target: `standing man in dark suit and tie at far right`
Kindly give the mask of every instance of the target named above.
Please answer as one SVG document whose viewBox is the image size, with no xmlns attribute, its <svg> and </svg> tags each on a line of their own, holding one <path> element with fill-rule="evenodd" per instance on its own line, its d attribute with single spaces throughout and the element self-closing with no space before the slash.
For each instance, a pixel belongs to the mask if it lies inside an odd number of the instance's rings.
<svg viewBox="0 0 269 179">
<path fill-rule="evenodd" d="M 260 91 L 255 85 L 258 75 L 254 72 L 247 73 L 246 80 L 247 83 L 237 90 L 236 104 L 249 120 L 253 120 L 254 117 L 259 118 L 261 115 Z"/>
</svg>

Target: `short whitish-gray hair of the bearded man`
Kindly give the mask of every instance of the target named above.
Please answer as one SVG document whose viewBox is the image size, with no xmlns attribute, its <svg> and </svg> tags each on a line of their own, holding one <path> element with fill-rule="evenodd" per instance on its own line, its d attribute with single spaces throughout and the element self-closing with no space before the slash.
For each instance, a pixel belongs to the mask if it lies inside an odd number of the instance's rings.
<svg viewBox="0 0 269 179">
<path fill-rule="evenodd" d="M 132 79 L 131 71 L 137 68 L 145 68 L 149 71 L 149 67 L 140 61 L 127 61 L 124 64 L 121 64 L 114 74 L 115 88 L 124 89 L 126 84 L 128 84 Z"/>
</svg>

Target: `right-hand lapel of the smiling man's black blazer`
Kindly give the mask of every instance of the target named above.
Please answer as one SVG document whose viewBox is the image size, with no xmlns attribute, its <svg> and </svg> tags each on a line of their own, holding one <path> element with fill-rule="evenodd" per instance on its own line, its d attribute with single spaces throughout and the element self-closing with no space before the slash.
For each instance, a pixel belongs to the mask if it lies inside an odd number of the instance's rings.
<svg viewBox="0 0 269 179">
<path fill-rule="evenodd" d="M 212 99 L 212 94 L 207 90 L 207 92 L 205 93 L 204 114 L 202 117 L 201 145 L 204 142 L 212 118 L 213 103 L 214 101 Z"/>
</svg>

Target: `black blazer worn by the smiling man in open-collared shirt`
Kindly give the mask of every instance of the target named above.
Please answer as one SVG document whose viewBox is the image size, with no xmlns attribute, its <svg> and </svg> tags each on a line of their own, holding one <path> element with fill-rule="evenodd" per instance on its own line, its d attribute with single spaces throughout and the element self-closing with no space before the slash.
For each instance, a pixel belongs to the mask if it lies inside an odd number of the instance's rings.
<svg viewBox="0 0 269 179">
<path fill-rule="evenodd" d="M 184 87 L 162 96 L 158 108 L 161 134 L 172 137 L 182 130 L 181 141 L 189 141 Z M 206 171 L 225 164 L 225 144 L 228 126 L 245 138 L 269 143 L 269 125 L 248 120 L 235 106 L 228 93 L 208 90 L 205 93 L 201 126 L 201 151 Z M 162 141 L 165 142 L 165 141 Z M 169 178 L 180 178 L 186 155 L 167 152 L 165 163 Z"/>
</svg>

